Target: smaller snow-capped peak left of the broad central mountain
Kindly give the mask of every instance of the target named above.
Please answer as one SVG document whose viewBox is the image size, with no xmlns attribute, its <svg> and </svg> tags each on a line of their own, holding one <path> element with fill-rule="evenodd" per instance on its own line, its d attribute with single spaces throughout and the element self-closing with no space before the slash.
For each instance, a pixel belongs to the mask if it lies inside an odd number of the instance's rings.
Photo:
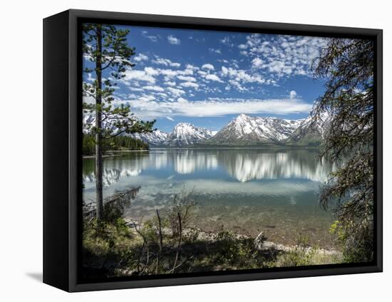
<svg viewBox="0 0 392 302">
<path fill-rule="evenodd" d="M 166 146 L 187 146 L 206 141 L 212 137 L 212 132 L 204 128 L 197 128 L 189 123 L 177 124 L 167 136 Z"/>
</svg>

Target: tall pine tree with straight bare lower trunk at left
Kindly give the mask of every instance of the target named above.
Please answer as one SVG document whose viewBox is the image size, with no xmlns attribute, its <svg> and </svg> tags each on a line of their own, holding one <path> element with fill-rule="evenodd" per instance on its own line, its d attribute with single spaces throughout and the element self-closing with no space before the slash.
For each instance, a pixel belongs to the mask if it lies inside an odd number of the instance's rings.
<svg viewBox="0 0 392 302">
<path fill-rule="evenodd" d="M 153 131 L 155 121 L 140 121 L 130 113 L 129 106 L 112 106 L 113 86 L 135 66 L 130 57 L 135 48 L 128 46 L 128 29 L 107 24 L 83 24 L 83 56 L 91 62 L 85 73 L 93 74 L 92 83 L 83 83 L 83 95 L 95 99 L 95 104 L 83 104 L 84 111 L 94 112 L 96 123 L 88 129 L 96 146 L 96 216 L 103 219 L 103 141 L 119 136 Z M 105 74 L 105 76 L 103 76 Z"/>
</svg>

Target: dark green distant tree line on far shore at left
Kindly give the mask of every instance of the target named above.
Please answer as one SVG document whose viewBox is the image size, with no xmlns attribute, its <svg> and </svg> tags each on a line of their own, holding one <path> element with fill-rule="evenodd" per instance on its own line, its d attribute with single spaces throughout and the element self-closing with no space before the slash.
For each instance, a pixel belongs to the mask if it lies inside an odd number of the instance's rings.
<svg viewBox="0 0 392 302">
<path fill-rule="evenodd" d="M 103 151 L 110 150 L 148 150 L 148 144 L 140 139 L 134 139 L 130 136 L 114 136 L 105 139 L 102 144 Z M 83 155 L 95 155 L 96 141 L 95 136 L 91 134 L 83 135 Z"/>
</svg>

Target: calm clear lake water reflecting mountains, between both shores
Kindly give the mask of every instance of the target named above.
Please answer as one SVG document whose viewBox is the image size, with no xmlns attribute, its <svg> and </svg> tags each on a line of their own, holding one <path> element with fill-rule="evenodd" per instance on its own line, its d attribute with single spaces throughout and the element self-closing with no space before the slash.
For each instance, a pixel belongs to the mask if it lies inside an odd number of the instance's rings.
<svg viewBox="0 0 392 302">
<path fill-rule="evenodd" d="M 317 149 L 153 149 L 105 157 L 103 196 L 141 186 L 125 215 L 165 211 L 173 193 L 194 189 L 193 223 L 205 231 L 224 226 L 269 241 L 294 244 L 299 234 L 332 248 L 334 216 L 319 207 L 318 193 L 333 167 Z M 85 201 L 95 196 L 94 159 L 83 159 Z"/>
</svg>

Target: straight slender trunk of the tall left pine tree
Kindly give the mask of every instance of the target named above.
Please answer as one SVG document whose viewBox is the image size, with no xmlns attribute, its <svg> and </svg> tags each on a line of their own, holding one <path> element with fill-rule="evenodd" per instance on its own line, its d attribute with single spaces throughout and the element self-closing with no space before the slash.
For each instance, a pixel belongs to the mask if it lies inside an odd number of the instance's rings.
<svg viewBox="0 0 392 302">
<path fill-rule="evenodd" d="M 103 219 L 103 193 L 102 193 L 102 25 L 97 24 L 97 58 L 96 58 L 96 203 L 97 220 Z"/>
</svg>

